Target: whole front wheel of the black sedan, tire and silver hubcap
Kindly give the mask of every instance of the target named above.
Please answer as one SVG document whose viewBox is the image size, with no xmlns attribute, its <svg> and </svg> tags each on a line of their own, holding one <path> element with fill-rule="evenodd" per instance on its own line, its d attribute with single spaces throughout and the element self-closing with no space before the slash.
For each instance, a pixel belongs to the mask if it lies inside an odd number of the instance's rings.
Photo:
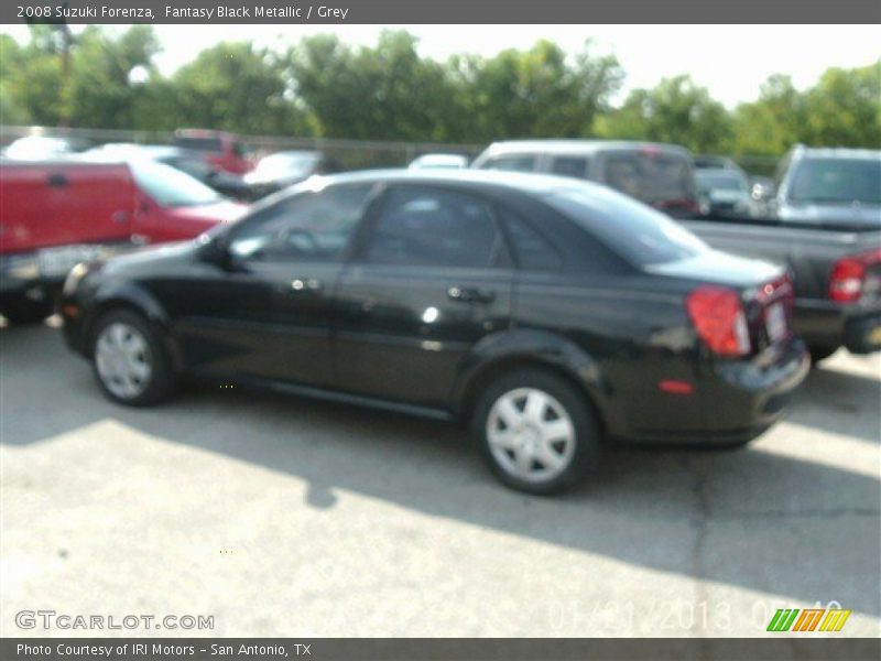
<svg viewBox="0 0 881 661">
<path fill-rule="evenodd" d="M 93 338 L 95 376 L 110 399 L 141 407 L 172 393 L 174 377 L 167 354 L 141 315 L 111 311 L 98 321 Z"/>
</svg>

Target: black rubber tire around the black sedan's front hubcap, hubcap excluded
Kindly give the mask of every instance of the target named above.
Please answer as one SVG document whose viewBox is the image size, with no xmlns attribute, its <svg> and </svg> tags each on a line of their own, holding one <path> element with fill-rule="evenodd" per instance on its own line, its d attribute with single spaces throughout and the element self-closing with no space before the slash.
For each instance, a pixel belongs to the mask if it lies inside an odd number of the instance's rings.
<svg viewBox="0 0 881 661">
<path fill-rule="evenodd" d="M 113 392 L 111 387 L 105 382 L 98 367 L 98 340 L 104 330 L 113 324 L 129 326 L 140 333 L 146 344 L 148 353 L 145 353 L 145 358 L 149 357 L 150 372 L 143 381 L 142 389 L 131 397 Z M 91 334 L 89 355 L 91 356 L 91 367 L 95 378 L 98 380 L 98 386 L 115 402 L 129 407 L 148 407 L 168 399 L 175 390 L 174 372 L 168 353 L 162 344 L 162 337 L 156 327 L 137 312 L 111 310 L 101 315 Z"/>
</svg>

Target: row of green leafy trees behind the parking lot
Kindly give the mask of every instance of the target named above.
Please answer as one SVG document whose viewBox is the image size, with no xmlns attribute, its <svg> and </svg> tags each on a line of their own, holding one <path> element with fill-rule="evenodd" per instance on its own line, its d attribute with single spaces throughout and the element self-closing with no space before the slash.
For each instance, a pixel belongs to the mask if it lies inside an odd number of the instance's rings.
<svg viewBox="0 0 881 661">
<path fill-rule="evenodd" d="M 576 54 L 540 41 L 492 57 L 423 57 L 415 37 L 373 46 L 333 35 L 279 53 L 219 43 L 170 76 L 155 67 L 150 26 L 80 32 L 63 84 L 64 39 L 35 25 L 0 35 L 0 121 L 107 129 L 228 129 L 242 133 L 483 143 L 505 138 L 639 139 L 695 152 L 777 156 L 792 144 L 881 147 L 881 61 L 830 68 L 800 90 L 775 75 L 759 98 L 727 109 L 687 75 L 611 99 L 624 72 L 586 42 Z"/>
</svg>

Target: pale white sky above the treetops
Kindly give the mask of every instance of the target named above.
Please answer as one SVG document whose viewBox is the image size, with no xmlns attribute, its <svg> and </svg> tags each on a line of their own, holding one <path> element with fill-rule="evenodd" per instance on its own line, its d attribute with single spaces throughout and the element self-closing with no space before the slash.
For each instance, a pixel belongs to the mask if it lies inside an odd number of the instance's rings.
<svg viewBox="0 0 881 661">
<path fill-rule="evenodd" d="M 108 28 L 110 29 L 110 28 Z M 120 29 L 120 28 L 112 28 Z M 111 30 L 112 30 L 111 29 Z M 420 39 L 420 53 L 445 59 L 454 53 L 491 56 L 504 48 L 527 48 L 540 39 L 567 52 L 591 39 L 597 53 L 614 54 L 628 90 L 653 87 L 662 78 L 690 74 L 697 84 L 733 107 L 751 101 L 771 74 L 793 77 L 809 87 L 830 66 L 864 66 L 881 58 L 878 25 L 154 25 L 163 52 L 160 69 L 170 74 L 219 41 L 252 40 L 287 47 L 301 37 L 333 32 L 356 45 L 372 45 L 383 29 L 403 29 Z M 2 25 L 0 32 L 26 39 L 26 28 Z"/>
</svg>

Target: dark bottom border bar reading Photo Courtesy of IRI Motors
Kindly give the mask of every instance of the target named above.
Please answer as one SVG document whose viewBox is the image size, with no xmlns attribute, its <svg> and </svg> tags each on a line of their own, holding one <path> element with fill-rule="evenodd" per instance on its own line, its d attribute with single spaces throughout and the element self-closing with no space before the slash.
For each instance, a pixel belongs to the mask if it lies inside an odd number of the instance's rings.
<svg viewBox="0 0 881 661">
<path fill-rule="evenodd" d="M 137 644 L 145 646 L 135 648 Z M 25 653 L 20 646 L 30 646 Z M 69 649 L 68 649 L 69 646 Z M 232 654 L 211 653 L 221 646 Z M 261 646 L 263 653 L 240 653 Z M 33 652 L 36 647 L 48 653 Z M 107 653 L 108 648 L 110 654 Z M 83 650 L 94 650 L 83 653 Z M 135 653 L 146 650 L 145 653 Z M 6 661 L 105 659 L 108 661 L 206 661 L 208 659 L 308 659 L 315 661 L 877 661 L 881 640 L 835 636 L 772 638 L 7 638 Z"/>
</svg>

